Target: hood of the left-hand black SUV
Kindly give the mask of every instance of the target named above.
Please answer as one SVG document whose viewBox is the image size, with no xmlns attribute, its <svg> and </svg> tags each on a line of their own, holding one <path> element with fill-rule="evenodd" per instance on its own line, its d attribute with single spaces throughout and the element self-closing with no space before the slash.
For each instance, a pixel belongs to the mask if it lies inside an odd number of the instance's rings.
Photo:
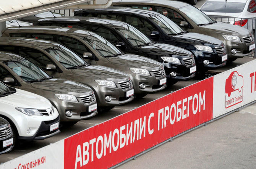
<svg viewBox="0 0 256 169">
<path fill-rule="evenodd" d="M 170 56 L 172 55 L 173 57 L 175 57 L 175 55 L 178 56 L 190 56 L 192 53 L 184 48 L 180 48 L 177 46 L 173 46 L 173 45 L 169 45 L 169 44 L 165 44 L 165 43 L 155 43 L 153 45 L 146 45 L 146 46 L 142 46 L 141 48 L 143 49 L 148 49 L 150 50 L 151 53 L 165 53 L 165 55 Z"/>
</svg>

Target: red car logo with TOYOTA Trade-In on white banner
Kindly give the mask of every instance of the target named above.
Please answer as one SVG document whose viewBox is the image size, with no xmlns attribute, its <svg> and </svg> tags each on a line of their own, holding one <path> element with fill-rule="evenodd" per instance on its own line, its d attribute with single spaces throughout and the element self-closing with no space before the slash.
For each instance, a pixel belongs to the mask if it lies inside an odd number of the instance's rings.
<svg viewBox="0 0 256 169">
<path fill-rule="evenodd" d="M 230 73 L 225 83 L 225 107 L 229 108 L 243 101 L 243 76 L 237 71 Z"/>
</svg>

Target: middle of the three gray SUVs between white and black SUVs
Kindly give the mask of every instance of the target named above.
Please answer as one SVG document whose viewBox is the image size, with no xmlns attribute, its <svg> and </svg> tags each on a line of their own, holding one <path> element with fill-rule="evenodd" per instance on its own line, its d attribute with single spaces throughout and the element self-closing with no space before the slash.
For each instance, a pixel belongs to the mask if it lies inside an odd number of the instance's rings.
<svg viewBox="0 0 256 169">
<path fill-rule="evenodd" d="M 97 110 L 109 110 L 133 100 L 128 75 L 104 66 L 90 66 L 70 49 L 39 39 L 0 37 L 0 50 L 24 56 L 53 77 L 85 84 L 94 91 Z"/>
</svg>

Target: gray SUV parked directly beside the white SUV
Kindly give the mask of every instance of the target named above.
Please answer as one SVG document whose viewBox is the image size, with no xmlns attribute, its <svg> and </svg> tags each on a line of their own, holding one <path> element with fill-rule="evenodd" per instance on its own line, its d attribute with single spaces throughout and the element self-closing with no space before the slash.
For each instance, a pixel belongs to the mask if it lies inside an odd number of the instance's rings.
<svg viewBox="0 0 256 169">
<path fill-rule="evenodd" d="M 47 98 L 57 108 L 62 124 L 75 124 L 97 114 L 91 88 L 52 78 L 31 61 L 14 53 L 0 52 L 0 81 Z"/>
</svg>

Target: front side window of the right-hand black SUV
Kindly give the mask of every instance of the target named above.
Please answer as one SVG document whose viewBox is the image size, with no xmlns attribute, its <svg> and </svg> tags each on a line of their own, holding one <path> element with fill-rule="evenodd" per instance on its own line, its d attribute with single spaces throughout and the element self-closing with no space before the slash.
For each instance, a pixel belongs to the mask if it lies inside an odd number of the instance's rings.
<svg viewBox="0 0 256 169">
<path fill-rule="evenodd" d="M 142 18 L 136 18 L 134 16 L 125 16 L 126 22 L 131 26 L 136 27 L 139 31 L 143 32 L 148 37 L 152 31 L 157 31 L 154 26 L 152 26 L 148 21 Z"/>
</svg>

